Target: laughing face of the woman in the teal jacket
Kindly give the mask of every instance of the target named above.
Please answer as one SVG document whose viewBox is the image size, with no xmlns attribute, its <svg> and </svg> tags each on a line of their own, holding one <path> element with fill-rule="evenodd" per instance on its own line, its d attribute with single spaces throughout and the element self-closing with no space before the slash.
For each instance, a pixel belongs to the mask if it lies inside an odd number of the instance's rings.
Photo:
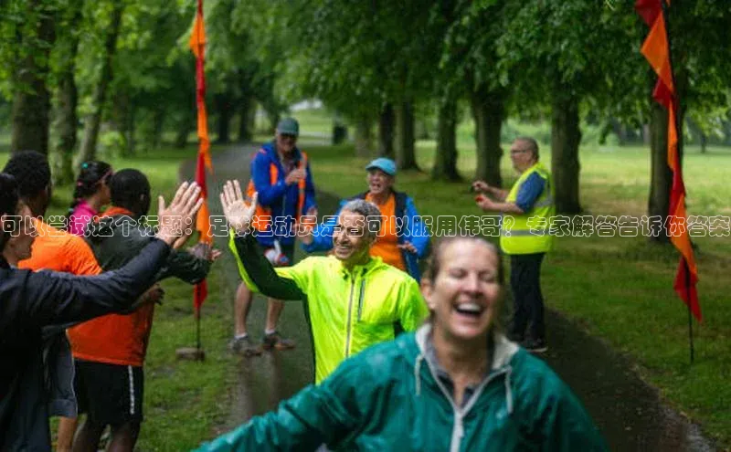
<svg viewBox="0 0 731 452">
<path fill-rule="evenodd" d="M 473 238 L 455 239 L 439 252 L 437 274 L 422 281 L 434 334 L 456 342 L 482 341 L 500 311 L 500 257 L 482 239 Z"/>
</svg>

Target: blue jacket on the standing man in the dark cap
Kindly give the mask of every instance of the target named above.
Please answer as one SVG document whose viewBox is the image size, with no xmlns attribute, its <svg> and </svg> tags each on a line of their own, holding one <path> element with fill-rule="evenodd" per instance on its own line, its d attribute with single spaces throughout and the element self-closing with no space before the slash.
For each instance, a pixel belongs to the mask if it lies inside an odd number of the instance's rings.
<svg viewBox="0 0 731 452">
<path fill-rule="evenodd" d="M 294 148 L 294 161 L 299 164 L 302 160 L 302 152 Z M 274 165 L 277 169 L 277 182 L 271 183 L 270 167 Z M 259 204 L 269 208 L 271 211 L 272 229 L 269 232 L 260 232 L 257 240 L 264 247 L 272 247 L 277 239 L 282 245 L 294 243 L 295 234 L 292 226 L 294 218 L 298 215 L 297 202 L 299 199 L 299 188 L 297 184 L 287 185 L 284 179 L 287 174 L 281 166 L 279 155 L 273 142 L 264 143 L 259 152 L 251 159 L 251 181 L 254 188 L 259 192 Z M 305 179 L 304 205 L 302 215 L 307 213 L 311 207 L 316 206 L 314 198 L 313 176 L 310 171 L 310 163 L 307 162 L 307 177 Z"/>
</svg>

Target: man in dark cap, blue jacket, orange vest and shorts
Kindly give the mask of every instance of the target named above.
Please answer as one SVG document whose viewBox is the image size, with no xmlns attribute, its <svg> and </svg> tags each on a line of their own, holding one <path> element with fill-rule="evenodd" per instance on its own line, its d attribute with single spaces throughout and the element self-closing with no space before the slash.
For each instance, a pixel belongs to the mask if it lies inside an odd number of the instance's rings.
<svg viewBox="0 0 731 452">
<path fill-rule="evenodd" d="M 314 184 L 307 154 L 297 147 L 300 125 L 285 118 L 277 125 L 272 142 L 261 146 L 251 160 L 249 195 L 259 193 L 257 243 L 274 266 L 290 266 L 294 258 L 296 225 L 302 215 L 317 215 Z M 241 283 L 234 302 L 235 335 L 229 346 L 245 355 L 260 354 L 261 347 L 249 338 L 246 321 L 253 295 Z M 267 324 L 262 346 L 266 350 L 289 350 L 294 342 L 277 332 L 277 323 L 284 309 L 281 300 L 268 299 Z"/>
</svg>

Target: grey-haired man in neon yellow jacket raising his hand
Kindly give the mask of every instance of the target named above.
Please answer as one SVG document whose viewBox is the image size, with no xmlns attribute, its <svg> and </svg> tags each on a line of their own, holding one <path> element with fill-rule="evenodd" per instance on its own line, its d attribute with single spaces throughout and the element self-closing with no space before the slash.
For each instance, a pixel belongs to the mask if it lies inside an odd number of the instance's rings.
<svg viewBox="0 0 731 452">
<path fill-rule="evenodd" d="M 246 205 L 238 181 L 224 186 L 221 204 L 236 233 L 229 246 L 250 289 L 277 300 L 306 303 L 315 383 L 345 358 L 394 339 L 399 331 L 414 331 L 429 316 L 416 280 L 369 254 L 381 226 L 376 205 L 364 200 L 344 205 L 334 230 L 333 256 L 273 268 L 248 233 L 256 197 Z"/>
</svg>

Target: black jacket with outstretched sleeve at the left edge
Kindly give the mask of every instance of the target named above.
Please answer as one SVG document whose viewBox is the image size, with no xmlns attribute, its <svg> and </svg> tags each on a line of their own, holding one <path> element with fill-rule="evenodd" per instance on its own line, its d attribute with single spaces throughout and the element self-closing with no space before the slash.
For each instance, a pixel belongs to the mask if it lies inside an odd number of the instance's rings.
<svg viewBox="0 0 731 452">
<path fill-rule="evenodd" d="M 93 277 L 10 268 L 0 258 L 0 451 L 50 450 L 41 331 L 128 310 L 170 254 L 150 240 L 128 265 Z"/>
</svg>

